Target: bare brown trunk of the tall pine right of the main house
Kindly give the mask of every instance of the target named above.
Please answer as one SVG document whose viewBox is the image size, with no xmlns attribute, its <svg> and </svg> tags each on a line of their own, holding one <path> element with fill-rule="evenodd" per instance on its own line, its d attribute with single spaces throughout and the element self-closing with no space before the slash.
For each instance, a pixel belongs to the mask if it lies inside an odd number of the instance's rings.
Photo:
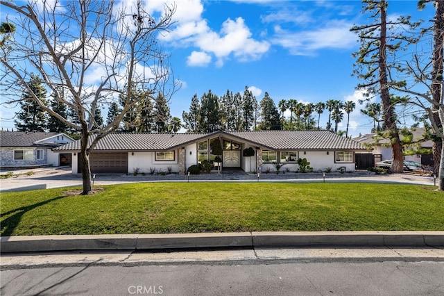
<svg viewBox="0 0 444 296">
<path fill-rule="evenodd" d="M 380 3 L 381 15 L 381 33 L 379 35 L 379 87 L 381 89 L 381 102 L 384 114 L 386 129 L 389 131 L 391 141 L 391 151 L 393 162 L 391 164 L 392 172 L 404 172 L 404 158 L 402 156 L 402 145 L 398 127 L 396 126 L 396 115 L 390 100 L 387 79 L 387 56 L 386 56 L 386 1 Z"/>
</svg>

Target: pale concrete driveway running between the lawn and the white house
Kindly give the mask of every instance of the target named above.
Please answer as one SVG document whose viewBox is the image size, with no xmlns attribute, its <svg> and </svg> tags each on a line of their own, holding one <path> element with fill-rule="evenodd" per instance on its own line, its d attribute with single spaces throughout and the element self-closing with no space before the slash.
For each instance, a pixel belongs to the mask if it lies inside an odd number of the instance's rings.
<svg viewBox="0 0 444 296">
<path fill-rule="evenodd" d="M 1 190 L 46 184 L 46 188 L 59 188 L 68 186 L 81 186 L 81 174 L 72 174 L 69 167 L 40 168 L 34 170 L 13 171 L 14 176 L 8 179 L 0 179 Z M 6 174 L 2 172 L 1 174 Z M 110 185 L 132 182 L 202 182 L 202 181 L 237 181 L 237 182 L 291 182 L 291 183 L 321 183 L 321 182 L 371 182 L 371 183 L 410 183 L 434 186 L 432 176 L 420 176 L 413 173 L 377 175 L 367 171 L 323 173 L 270 173 L 257 174 L 246 173 L 239 170 L 230 170 L 217 174 L 199 174 L 184 176 L 180 174 L 166 175 L 142 175 L 132 174 L 96 174 L 94 185 Z"/>
</svg>

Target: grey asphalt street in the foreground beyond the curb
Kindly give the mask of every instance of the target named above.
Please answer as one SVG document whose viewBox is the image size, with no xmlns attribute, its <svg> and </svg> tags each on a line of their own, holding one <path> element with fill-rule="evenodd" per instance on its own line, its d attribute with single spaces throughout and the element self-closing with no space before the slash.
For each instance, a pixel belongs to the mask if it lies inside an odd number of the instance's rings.
<svg viewBox="0 0 444 296">
<path fill-rule="evenodd" d="M 3 270 L 1 295 L 444 295 L 444 262 L 121 265 Z"/>
</svg>

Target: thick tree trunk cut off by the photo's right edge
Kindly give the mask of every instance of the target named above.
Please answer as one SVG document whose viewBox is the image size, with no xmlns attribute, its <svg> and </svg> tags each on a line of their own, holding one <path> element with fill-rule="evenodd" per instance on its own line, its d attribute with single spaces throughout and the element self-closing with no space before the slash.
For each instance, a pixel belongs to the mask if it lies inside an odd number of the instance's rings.
<svg viewBox="0 0 444 296">
<path fill-rule="evenodd" d="M 435 15 L 435 23 L 434 23 L 434 44 L 433 44 L 433 69 L 432 69 L 432 78 L 438 81 L 443 80 L 443 54 L 444 54 L 444 1 L 435 1 L 436 5 L 436 15 Z M 432 84 L 432 97 L 434 100 L 433 110 L 436 112 L 439 107 L 439 103 L 441 101 L 441 88 L 442 83 L 433 83 Z M 441 128 L 443 126 L 443 122 L 440 120 L 438 112 L 434 115 L 434 120 L 436 125 Z M 434 172 L 438 173 L 441 169 L 441 156 L 443 155 L 443 141 L 433 142 L 433 161 L 434 161 Z M 440 172 L 441 176 L 441 172 Z"/>
</svg>

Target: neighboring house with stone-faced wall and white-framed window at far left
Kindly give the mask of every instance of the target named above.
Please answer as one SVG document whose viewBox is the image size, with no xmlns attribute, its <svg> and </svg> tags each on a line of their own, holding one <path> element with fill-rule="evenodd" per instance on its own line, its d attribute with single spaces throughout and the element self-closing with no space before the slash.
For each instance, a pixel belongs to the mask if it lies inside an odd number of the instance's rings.
<svg viewBox="0 0 444 296">
<path fill-rule="evenodd" d="M 0 167 L 71 165 L 71 154 L 54 153 L 51 149 L 73 141 L 65 133 L 0 131 Z"/>
</svg>

